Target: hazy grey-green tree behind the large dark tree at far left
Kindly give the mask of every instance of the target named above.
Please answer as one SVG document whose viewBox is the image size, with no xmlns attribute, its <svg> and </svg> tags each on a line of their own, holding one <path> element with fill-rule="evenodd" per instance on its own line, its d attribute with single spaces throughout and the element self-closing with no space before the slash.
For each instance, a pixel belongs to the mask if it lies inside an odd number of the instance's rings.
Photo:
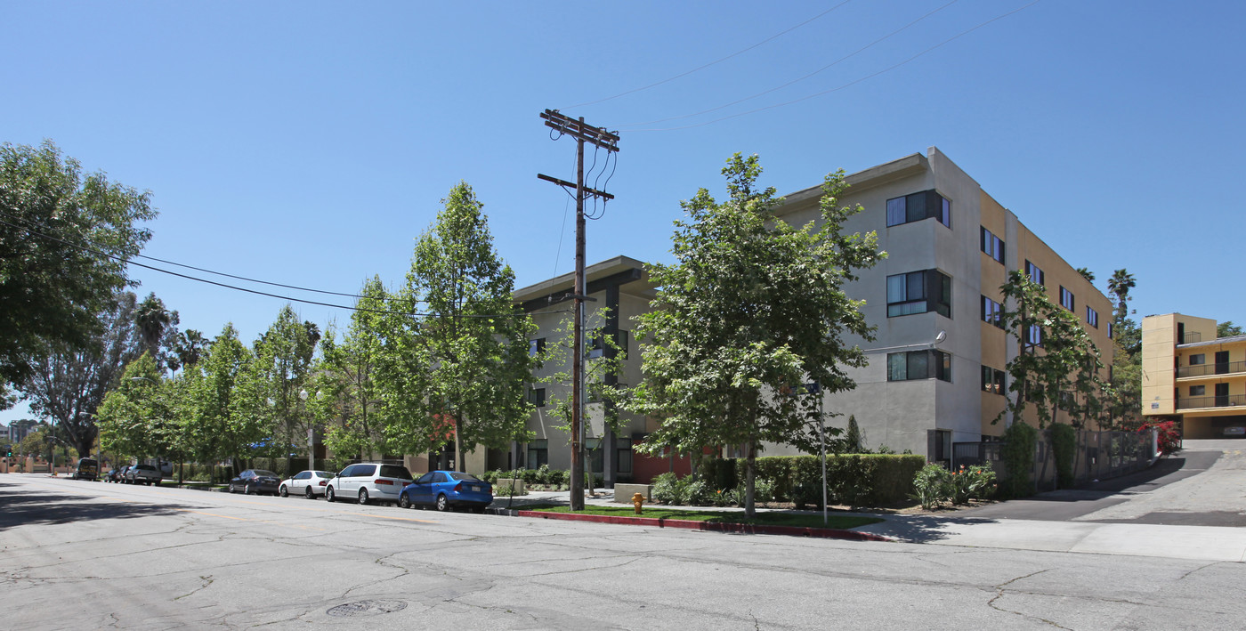
<svg viewBox="0 0 1246 631">
<path fill-rule="evenodd" d="M 120 292 L 97 317 L 96 337 L 81 347 L 57 344 L 31 362 L 24 385 L 36 415 L 55 419 L 80 454 L 90 454 L 98 428 L 96 408 L 118 384 L 126 365 L 138 357 L 135 294 Z"/>
</svg>

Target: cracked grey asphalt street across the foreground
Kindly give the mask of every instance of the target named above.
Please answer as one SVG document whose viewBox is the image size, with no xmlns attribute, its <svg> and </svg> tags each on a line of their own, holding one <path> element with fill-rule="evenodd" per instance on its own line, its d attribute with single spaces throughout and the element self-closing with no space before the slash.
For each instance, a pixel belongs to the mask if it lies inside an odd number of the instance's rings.
<svg viewBox="0 0 1246 631">
<path fill-rule="evenodd" d="M 1246 564 L 0 476 L 5 629 L 1241 629 Z"/>
</svg>

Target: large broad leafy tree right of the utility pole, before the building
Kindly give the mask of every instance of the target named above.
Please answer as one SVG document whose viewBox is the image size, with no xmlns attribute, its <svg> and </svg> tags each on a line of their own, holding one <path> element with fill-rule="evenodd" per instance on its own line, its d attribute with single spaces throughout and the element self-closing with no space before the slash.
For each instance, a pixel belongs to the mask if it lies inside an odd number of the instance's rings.
<svg viewBox="0 0 1246 631">
<path fill-rule="evenodd" d="M 776 217 L 781 200 L 755 188 L 760 173 L 756 156 L 736 153 L 723 168 L 728 201 L 701 188 L 682 202 L 688 221 L 675 222 L 677 263 L 647 266 L 659 289 L 639 317 L 645 377 L 629 403 L 662 418 L 643 450 L 743 445 L 749 515 L 761 444 L 816 449 L 821 397 L 856 385 L 845 370 L 866 357 L 846 338 L 872 339 L 872 328 L 862 301 L 842 286 L 885 256 L 873 233 L 842 232 L 861 211 L 839 206 L 842 171 L 822 186 L 819 228 Z M 821 392 L 799 388 L 805 382 Z"/>
</svg>

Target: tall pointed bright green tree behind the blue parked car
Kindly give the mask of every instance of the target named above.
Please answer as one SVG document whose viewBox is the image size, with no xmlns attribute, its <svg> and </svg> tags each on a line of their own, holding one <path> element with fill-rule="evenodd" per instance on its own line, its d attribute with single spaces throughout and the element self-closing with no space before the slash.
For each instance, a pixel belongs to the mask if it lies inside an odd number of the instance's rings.
<svg viewBox="0 0 1246 631">
<path fill-rule="evenodd" d="M 451 419 L 462 470 L 465 450 L 527 439 L 536 325 L 512 302 L 515 272 L 493 249 L 476 193 L 460 182 L 444 205 L 416 243 L 405 296 L 427 313 L 417 335 L 429 367 L 421 434 L 436 439 L 436 419 Z"/>
</svg>

